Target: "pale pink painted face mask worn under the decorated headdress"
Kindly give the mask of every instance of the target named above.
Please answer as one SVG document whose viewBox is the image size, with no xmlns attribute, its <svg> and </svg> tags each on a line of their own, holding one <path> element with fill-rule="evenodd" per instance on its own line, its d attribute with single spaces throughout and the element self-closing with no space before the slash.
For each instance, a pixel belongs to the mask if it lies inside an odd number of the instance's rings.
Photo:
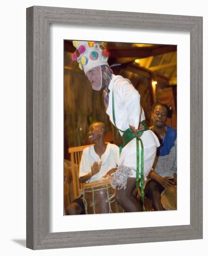
<svg viewBox="0 0 208 256">
<path fill-rule="evenodd" d="M 90 69 L 86 76 L 90 81 L 93 90 L 100 91 L 102 89 L 102 72 L 101 66 Z"/>
</svg>

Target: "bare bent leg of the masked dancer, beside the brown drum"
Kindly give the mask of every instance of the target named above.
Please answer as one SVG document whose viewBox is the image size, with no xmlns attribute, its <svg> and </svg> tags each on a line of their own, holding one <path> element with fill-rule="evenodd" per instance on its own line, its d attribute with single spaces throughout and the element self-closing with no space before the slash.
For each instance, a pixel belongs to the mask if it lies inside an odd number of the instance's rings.
<svg viewBox="0 0 208 256">
<path fill-rule="evenodd" d="M 115 198 L 126 212 L 139 212 L 142 207 L 132 194 L 136 188 L 136 178 L 128 178 L 126 189 L 116 189 Z"/>
</svg>

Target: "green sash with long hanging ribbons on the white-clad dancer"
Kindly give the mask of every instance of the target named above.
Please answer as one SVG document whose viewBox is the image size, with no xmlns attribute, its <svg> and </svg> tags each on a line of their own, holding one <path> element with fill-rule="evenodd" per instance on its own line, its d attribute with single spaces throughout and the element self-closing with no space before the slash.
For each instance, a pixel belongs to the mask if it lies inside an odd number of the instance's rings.
<svg viewBox="0 0 208 256">
<path fill-rule="evenodd" d="M 112 99 L 113 99 L 113 101 L 112 101 L 113 122 L 114 122 L 115 127 L 117 128 L 116 123 L 115 123 L 115 110 L 114 110 L 113 91 L 112 91 Z M 145 129 L 142 130 L 142 131 L 139 131 L 137 133 L 138 135 L 142 135 L 144 133 L 144 131 L 149 130 L 145 120 L 141 121 L 141 124 L 145 127 Z M 117 129 L 120 130 L 119 128 L 117 128 Z M 130 128 L 128 128 L 126 131 L 121 131 L 121 132 L 123 132 L 123 135 L 122 135 L 123 144 L 119 147 L 120 148 L 120 153 L 121 153 L 122 148 L 125 147 L 126 144 L 129 141 L 131 141 L 133 138 L 137 138 L 137 140 L 136 140 L 136 143 L 137 143 L 136 188 L 137 188 L 137 191 L 138 191 L 138 189 L 139 189 L 139 174 L 140 174 L 140 177 L 141 177 L 141 198 L 142 198 L 142 204 L 143 204 L 143 211 L 146 211 L 145 204 L 144 204 L 145 194 L 144 194 L 144 146 L 143 146 L 143 142 L 142 142 L 142 140 L 139 137 L 136 137 L 136 135 L 133 134 L 133 132 L 132 132 L 132 130 Z M 140 147 L 141 147 L 141 166 L 139 166 L 139 142 L 140 142 Z M 139 171 L 139 167 L 141 167 L 140 171 Z M 139 197 L 139 195 L 138 195 L 138 197 Z"/>
</svg>

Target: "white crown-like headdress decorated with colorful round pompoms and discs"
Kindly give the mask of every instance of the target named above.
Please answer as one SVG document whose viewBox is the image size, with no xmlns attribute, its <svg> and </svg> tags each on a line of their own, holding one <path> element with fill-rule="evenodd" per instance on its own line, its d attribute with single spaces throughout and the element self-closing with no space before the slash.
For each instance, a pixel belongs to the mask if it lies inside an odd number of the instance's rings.
<svg viewBox="0 0 208 256">
<path fill-rule="evenodd" d="M 73 41 L 76 51 L 72 54 L 72 60 L 79 63 L 79 68 L 86 74 L 93 67 L 108 65 L 109 52 L 100 42 L 94 42 L 92 46 L 88 41 Z"/>
</svg>

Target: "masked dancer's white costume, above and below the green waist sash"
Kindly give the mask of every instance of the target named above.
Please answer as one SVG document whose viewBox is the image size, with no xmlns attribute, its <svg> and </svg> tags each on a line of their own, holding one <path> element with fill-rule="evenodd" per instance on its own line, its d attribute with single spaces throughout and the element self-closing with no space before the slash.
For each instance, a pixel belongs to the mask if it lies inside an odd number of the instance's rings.
<svg viewBox="0 0 208 256">
<path fill-rule="evenodd" d="M 128 79 L 114 74 L 108 89 L 110 92 L 108 94 L 109 99 L 106 113 L 109 115 L 110 121 L 114 124 L 112 108 L 114 98 L 116 122 L 114 125 L 122 131 L 126 131 L 129 128 L 129 125 L 138 128 L 139 122 L 145 120 L 144 110 L 140 106 L 139 92 L 133 87 Z M 122 136 L 123 132 L 120 131 L 120 135 Z M 157 147 L 160 146 L 160 143 L 157 136 L 151 130 L 145 131 L 140 138 L 144 145 L 144 175 L 146 177 L 151 170 L 156 150 Z M 120 165 L 125 165 L 134 170 L 131 177 L 136 177 L 136 153 L 136 138 L 134 138 L 122 149 L 120 155 Z"/>
</svg>

